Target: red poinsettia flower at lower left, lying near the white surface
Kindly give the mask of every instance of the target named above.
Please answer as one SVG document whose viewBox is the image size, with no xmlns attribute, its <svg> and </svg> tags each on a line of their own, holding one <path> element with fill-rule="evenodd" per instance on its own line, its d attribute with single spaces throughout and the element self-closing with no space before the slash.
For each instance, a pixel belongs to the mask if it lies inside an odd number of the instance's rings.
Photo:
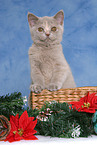
<svg viewBox="0 0 97 145">
<path fill-rule="evenodd" d="M 19 114 L 16 116 L 10 116 L 11 131 L 5 141 L 13 142 L 22 139 L 25 140 L 36 140 L 37 138 L 33 135 L 37 131 L 34 130 L 37 119 L 34 117 L 28 117 L 27 111 L 24 111 L 19 118 Z"/>
</svg>

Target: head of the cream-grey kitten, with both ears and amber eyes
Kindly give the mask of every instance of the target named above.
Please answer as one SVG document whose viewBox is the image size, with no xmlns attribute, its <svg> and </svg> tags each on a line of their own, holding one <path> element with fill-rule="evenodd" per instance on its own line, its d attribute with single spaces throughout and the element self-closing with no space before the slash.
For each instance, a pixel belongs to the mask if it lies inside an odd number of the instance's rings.
<svg viewBox="0 0 97 145">
<path fill-rule="evenodd" d="M 37 17 L 32 13 L 28 13 L 28 22 L 33 42 L 46 45 L 60 43 L 63 34 L 63 20 L 63 10 L 53 17 Z"/>
</svg>

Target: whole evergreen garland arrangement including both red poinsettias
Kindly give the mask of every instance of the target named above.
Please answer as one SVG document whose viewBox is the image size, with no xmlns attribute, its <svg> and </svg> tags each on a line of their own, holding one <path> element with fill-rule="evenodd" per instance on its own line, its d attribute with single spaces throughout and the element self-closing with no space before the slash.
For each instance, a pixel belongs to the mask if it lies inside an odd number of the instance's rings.
<svg viewBox="0 0 97 145">
<path fill-rule="evenodd" d="M 22 97 L 20 92 L 0 97 L 0 115 L 10 118 L 11 124 L 5 141 L 37 139 L 34 136 L 36 132 L 38 135 L 63 138 L 88 137 L 94 131 L 97 133 L 96 93 L 88 93 L 79 102 L 69 104 L 45 102 L 41 109 L 27 108 L 24 111 L 25 106 L 27 97 Z M 3 133 L 2 126 L 6 130 L 7 124 L 0 122 L 0 135 Z"/>
</svg>

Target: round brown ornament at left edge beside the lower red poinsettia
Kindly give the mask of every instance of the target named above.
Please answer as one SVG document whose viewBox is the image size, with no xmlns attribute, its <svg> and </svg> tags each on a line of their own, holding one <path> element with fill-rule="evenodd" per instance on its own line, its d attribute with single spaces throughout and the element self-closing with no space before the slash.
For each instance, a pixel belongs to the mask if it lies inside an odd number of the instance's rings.
<svg viewBox="0 0 97 145">
<path fill-rule="evenodd" d="M 10 129 L 11 126 L 8 119 L 5 116 L 0 115 L 0 141 L 6 138 L 10 132 Z"/>
</svg>

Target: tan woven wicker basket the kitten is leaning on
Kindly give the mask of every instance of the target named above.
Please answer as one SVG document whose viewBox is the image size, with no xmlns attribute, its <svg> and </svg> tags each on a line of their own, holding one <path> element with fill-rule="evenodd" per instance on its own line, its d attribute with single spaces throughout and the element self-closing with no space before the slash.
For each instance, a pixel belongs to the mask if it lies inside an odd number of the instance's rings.
<svg viewBox="0 0 97 145">
<path fill-rule="evenodd" d="M 77 87 L 60 89 L 58 91 L 50 92 L 43 90 L 40 94 L 30 92 L 30 106 L 32 109 L 41 108 L 45 101 L 59 101 L 59 102 L 71 102 L 79 101 L 81 97 L 84 97 L 88 92 L 97 92 L 97 86 L 95 87 Z"/>
</svg>

